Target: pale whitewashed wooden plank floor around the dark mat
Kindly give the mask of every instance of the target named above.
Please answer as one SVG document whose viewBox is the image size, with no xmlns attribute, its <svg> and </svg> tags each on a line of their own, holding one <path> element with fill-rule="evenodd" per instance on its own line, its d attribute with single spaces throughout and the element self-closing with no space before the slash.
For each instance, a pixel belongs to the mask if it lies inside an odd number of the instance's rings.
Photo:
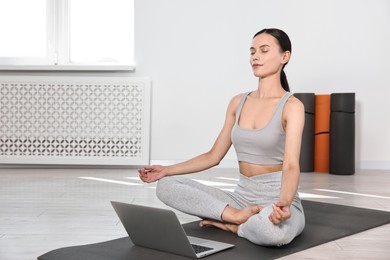
<svg viewBox="0 0 390 260">
<path fill-rule="evenodd" d="M 236 169 L 212 169 L 191 178 L 234 189 Z M 390 171 L 335 176 L 302 173 L 308 200 L 390 211 Z M 110 201 L 166 208 L 155 184 L 136 170 L 0 169 L 0 259 L 28 260 L 47 251 L 126 236 Z M 177 212 L 182 223 L 196 217 Z M 283 259 L 389 259 L 390 225 L 320 245 Z"/>
</svg>

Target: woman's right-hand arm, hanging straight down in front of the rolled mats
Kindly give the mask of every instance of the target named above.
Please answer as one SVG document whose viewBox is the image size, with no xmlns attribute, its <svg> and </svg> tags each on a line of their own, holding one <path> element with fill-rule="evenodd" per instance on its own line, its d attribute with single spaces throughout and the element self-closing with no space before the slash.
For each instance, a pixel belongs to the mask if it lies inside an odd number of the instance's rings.
<svg viewBox="0 0 390 260">
<path fill-rule="evenodd" d="M 301 101 L 291 97 L 283 111 L 283 122 L 286 131 L 284 148 L 283 175 L 280 198 L 274 204 L 270 220 L 278 224 L 290 217 L 290 205 L 298 190 L 299 156 L 301 152 L 302 132 L 305 124 L 305 110 Z"/>
</svg>

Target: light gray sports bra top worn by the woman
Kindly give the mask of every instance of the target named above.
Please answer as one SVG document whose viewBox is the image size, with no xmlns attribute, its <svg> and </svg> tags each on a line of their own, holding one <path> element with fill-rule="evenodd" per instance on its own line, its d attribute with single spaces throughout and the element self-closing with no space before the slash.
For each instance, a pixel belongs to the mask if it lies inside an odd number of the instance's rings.
<svg viewBox="0 0 390 260">
<path fill-rule="evenodd" d="M 238 123 L 245 100 L 250 92 L 242 95 L 236 111 L 236 123 L 232 129 L 232 143 L 240 162 L 253 164 L 282 164 L 286 134 L 282 125 L 282 113 L 292 94 L 286 92 L 280 99 L 270 121 L 257 129 L 241 128 Z"/>
</svg>

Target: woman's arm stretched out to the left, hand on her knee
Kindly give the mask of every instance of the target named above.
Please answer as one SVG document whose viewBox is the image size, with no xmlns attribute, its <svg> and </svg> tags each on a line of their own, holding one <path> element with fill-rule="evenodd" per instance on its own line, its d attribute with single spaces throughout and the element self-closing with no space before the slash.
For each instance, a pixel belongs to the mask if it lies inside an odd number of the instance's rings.
<svg viewBox="0 0 390 260">
<path fill-rule="evenodd" d="M 210 151 L 188 161 L 170 166 L 145 166 L 138 170 L 141 180 L 154 182 L 164 176 L 199 172 L 218 165 L 232 144 L 231 131 L 235 123 L 236 108 L 240 97 L 241 95 L 235 96 L 230 101 L 224 126 Z"/>
</svg>

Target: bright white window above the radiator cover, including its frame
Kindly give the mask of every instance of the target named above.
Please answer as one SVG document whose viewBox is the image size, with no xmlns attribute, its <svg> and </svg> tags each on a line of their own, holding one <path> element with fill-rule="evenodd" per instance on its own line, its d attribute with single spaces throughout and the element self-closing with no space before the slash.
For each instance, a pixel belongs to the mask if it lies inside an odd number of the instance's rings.
<svg viewBox="0 0 390 260">
<path fill-rule="evenodd" d="M 0 69 L 131 70 L 134 0 L 1 0 Z"/>
</svg>

